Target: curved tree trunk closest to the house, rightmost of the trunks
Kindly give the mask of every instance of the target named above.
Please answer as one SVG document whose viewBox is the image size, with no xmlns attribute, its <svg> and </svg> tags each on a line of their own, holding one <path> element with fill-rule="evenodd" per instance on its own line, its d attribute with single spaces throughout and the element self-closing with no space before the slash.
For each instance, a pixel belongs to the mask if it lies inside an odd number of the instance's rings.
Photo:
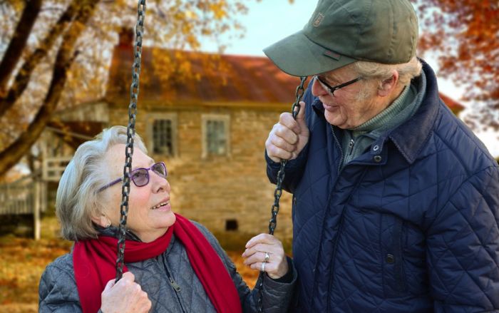
<svg viewBox="0 0 499 313">
<path fill-rule="evenodd" d="M 76 40 L 86 27 L 86 23 L 92 16 L 93 11 L 95 11 L 97 3 L 98 1 L 83 0 L 78 4 L 76 19 L 63 35 L 63 43 L 59 47 L 53 68 L 51 85 L 48 88 L 48 93 L 43 104 L 26 131 L 14 143 L 9 145 L 8 148 L 0 152 L 0 175 L 4 175 L 9 168 L 19 162 L 23 155 L 31 148 L 31 145 L 38 140 L 46 123 L 51 119 L 52 113 L 56 110 L 57 103 L 61 98 L 68 68 L 76 56 L 76 53 L 72 52 Z"/>
</svg>

